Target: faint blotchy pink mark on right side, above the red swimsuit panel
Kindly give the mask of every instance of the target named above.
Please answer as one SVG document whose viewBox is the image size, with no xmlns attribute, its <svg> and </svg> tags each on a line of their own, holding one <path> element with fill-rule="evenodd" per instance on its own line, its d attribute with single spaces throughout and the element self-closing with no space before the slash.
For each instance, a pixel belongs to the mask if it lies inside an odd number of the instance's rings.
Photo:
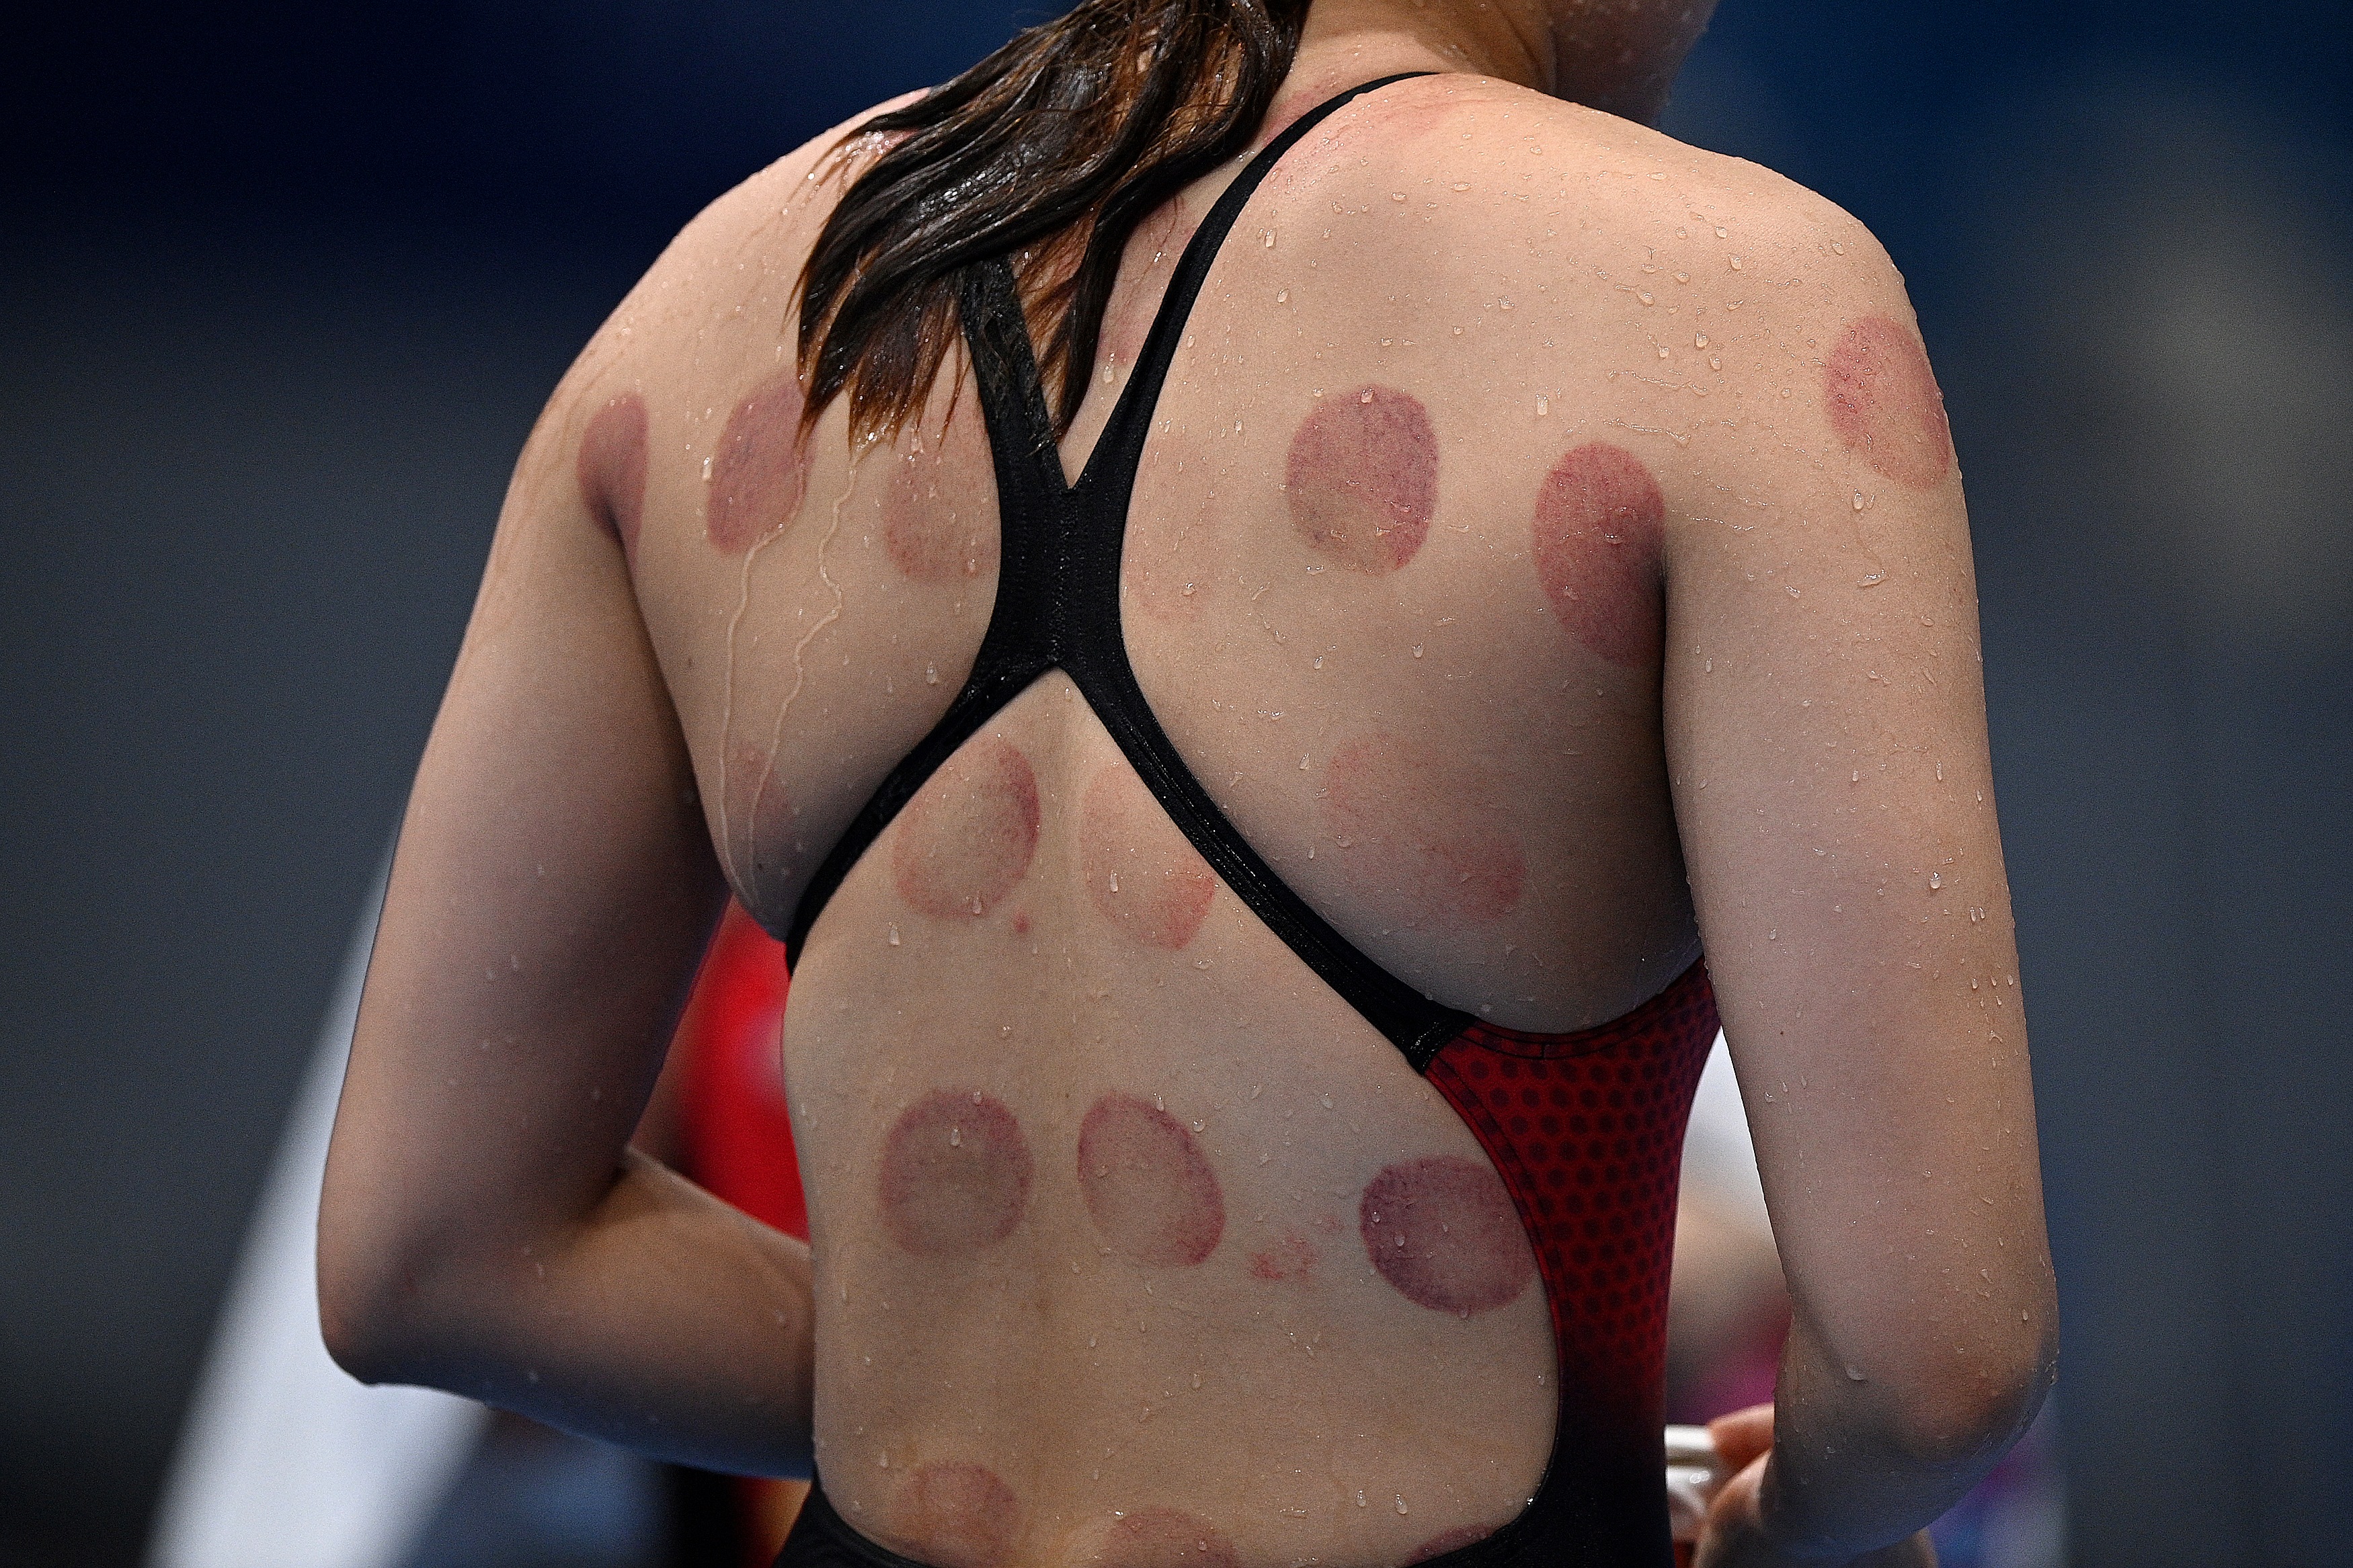
<svg viewBox="0 0 2353 1568">
<path fill-rule="evenodd" d="M 1341 745 L 1325 766 L 1322 825 L 1341 875 L 1407 931 L 1497 922 L 1527 884 L 1520 842 L 1452 771 L 1388 733 Z"/>
</svg>

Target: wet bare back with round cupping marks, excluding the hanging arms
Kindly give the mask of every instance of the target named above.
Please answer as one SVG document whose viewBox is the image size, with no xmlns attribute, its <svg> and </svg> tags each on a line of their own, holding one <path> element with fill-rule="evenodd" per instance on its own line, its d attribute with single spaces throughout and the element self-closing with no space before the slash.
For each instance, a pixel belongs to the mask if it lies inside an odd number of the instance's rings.
<svg viewBox="0 0 2353 1568">
<path fill-rule="evenodd" d="M 612 397 L 647 378 L 649 435 L 576 437 L 584 489 L 645 470 L 616 536 L 713 844 L 776 931 L 995 592 L 969 388 L 859 451 L 840 407 L 793 442 L 779 343 L 838 190 L 812 167 L 715 207 L 694 284 L 633 296 L 584 362 Z M 1153 418 L 1122 567 L 1146 696 L 1334 926 L 1497 1023 L 1614 1018 L 1697 954 L 1661 670 L 1704 654 L 1671 538 L 1737 548 L 1854 475 L 1955 482 L 1901 299 L 1720 221 L 1751 174 L 1506 85 L 1386 89 L 1254 197 Z M 1129 249 L 1071 473 L 1212 197 Z M 1868 543 L 1831 515 L 1824 550 Z M 944 1568 L 1405 1563 L 1541 1476 L 1551 1331 L 1489 1161 L 1068 679 L 852 870 L 786 1063 L 816 1455 L 856 1528 Z"/>
</svg>

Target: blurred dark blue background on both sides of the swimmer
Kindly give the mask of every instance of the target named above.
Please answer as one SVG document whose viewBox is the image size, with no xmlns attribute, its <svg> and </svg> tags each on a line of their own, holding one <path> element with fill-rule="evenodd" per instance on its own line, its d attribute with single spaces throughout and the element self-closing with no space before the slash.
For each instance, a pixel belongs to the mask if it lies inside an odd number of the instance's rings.
<svg viewBox="0 0 2353 1568">
<path fill-rule="evenodd" d="M 1725 0 L 1969 480 L 2080 1568 L 2353 1502 L 2348 7 Z M 1007 5 L 89 5 L 0 94 L 0 1568 L 132 1563 L 529 421 Z"/>
</svg>

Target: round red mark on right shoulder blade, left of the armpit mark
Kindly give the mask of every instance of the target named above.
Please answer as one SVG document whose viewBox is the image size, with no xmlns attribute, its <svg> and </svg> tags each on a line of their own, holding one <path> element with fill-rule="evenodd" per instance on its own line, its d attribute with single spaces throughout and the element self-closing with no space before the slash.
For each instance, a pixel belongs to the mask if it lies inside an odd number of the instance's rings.
<svg viewBox="0 0 2353 1568">
<path fill-rule="evenodd" d="M 1360 386 L 1299 421 L 1285 477 L 1292 527 L 1351 571 L 1414 559 L 1438 510 L 1438 433 L 1419 397 Z"/>
</svg>

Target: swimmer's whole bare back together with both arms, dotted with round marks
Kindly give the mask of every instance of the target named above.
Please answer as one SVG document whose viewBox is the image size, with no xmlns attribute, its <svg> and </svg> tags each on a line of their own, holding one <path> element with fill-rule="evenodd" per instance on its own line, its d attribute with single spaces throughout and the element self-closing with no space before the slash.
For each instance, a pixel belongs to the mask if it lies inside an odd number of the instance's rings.
<svg viewBox="0 0 2353 1568">
<path fill-rule="evenodd" d="M 1308 47 L 1261 139 L 1409 68 Z M 807 931 L 809 1260 L 612 1185 L 718 900 L 793 924 L 998 595 L 962 350 L 896 440 L 833 404 L 795 442 L 795 284 L 873 153 L 835 143 L 696 219 L 522 456 L 379 938 L 329 1333 L 407 1288 L 428 1349 L 348 1361 L 715 1465 L 814 1441 L 847 1521 L 944 1568 L 1473 1540 L 1553 1446 L 1527 1239 L 1066 675 Z M 1231 176 L 1129 244 L 1068 475 Z M 1219 252 L 1120 583 L 1191 771 L 1400 980 L 1565 1032 L 1704 938 L 1819 1399 L 1981 1441 L 2019 1378 L 1951 1347 L 2042 1356 L 2049 1272 L 1960 473 L 1861 226 L 1525 87 L 1381 87 Z M 1367 1220 L 1405 1190 L 1466 1215 L 1419 1269 Z"/>
</svg>

